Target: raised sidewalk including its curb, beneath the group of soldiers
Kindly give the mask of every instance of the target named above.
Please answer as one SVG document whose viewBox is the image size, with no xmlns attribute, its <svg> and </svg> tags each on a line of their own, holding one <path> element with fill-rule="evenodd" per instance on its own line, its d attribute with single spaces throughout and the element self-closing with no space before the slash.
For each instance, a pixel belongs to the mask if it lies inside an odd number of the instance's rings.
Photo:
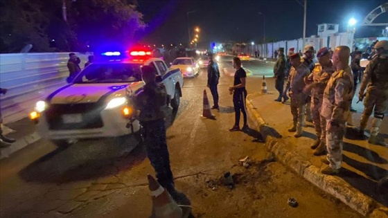
<svg viewBox="0 0 388 218">
<path fill-rule="evenodd" d="M 266 140 L 268 149 L 274 152 L 276 158 L 362 215 L 388 217 L 388 193 L 382 194 L 377 191 L 378 179 L 388 174 L 388 148 L 371 145 L 367 140 L 344 138 L 344 162 L 340 175 L 322 175 L 319 172 L 323 167 L 321 157 L 313 156 L 313 150 L 310 149 L 315 140 L 312 123 L 306 122 L 308 127 L 303 128 L 303 136 L 294 138 L 293 133 L 287 130 L 292 124 L 290 101 L 281 104 L 275 102 L 275 98 L 276 94 L 273 92 L 265 95 L 253 93 L 247 96 L 247 108 L 249 116 L 255 120 L 262 134 L 263 131 L 268 132 L 268 129 L 272 128 L 281 134 L 281 138 L 268 136 Z M 355 126 L 360 123 L 360 113 L 362 110 L 352 114 Z M 368 129 L 371 127 L 371 118 Z M 348 130 L 350 136 L 353 132 L 351 130 Z M 380 132 L 387 142 L 387 120 L 383 122 Z"/>
</svg>

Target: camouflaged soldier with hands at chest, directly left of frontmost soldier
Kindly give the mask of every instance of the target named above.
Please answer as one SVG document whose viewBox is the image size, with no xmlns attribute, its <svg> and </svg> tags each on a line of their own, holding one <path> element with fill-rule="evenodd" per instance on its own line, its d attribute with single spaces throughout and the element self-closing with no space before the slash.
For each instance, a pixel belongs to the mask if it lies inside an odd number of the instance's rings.
<svg viewBox="0 0 388 218">
<path fill-rule="evenodd" d="M 335 71 L 333 63 L 330 61 L 328 48 L 319 49 L 317 57 L 319 63 L 315 64 L 314 70 L 308 75 L 305 81 L 306 87 L 303 89 L 303 92 L 307 95 L 311 94 L 312 120 L 317 135 L 317 139 L 311 145 L 311 149 L 315 149 L 315 156 L 323 155 L 326 152 L 326 120 L 319 114 L 319 111 L 321 110 L 326 84 L 331 74 Z"/>
</svg>

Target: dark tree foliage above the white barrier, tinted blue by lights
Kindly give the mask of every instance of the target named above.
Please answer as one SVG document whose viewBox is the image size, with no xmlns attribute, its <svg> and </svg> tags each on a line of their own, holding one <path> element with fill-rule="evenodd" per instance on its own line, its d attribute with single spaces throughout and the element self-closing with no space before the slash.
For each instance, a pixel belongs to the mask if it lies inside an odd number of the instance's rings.
<svg viewBox="0 0 388 218">
<path fill-rule="evenodd" d="M 35 52 L 87 51 L 108 40 L 131 42 L 145 28 L 135 0 L 63 1 L 0 1 L 0 52 L 17 53 L 26 44 Z"/>
</svg>

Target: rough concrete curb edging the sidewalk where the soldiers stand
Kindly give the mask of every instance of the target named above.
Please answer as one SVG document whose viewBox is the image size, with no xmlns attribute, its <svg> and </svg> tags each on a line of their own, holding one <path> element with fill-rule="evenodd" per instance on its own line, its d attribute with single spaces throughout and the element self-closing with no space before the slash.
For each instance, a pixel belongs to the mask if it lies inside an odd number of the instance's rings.
<svg viewBox="0 0 388 218">
<path fill-rule="evenodd" d="M 247 96 L 247 109 L 249 116 L 252 118 L 256 129 L 263 134 L 265 129 L 269 128 L 265 123 L 260 113 L 256 111 L 252 105 L 252 94 Z M 264 134 L 263 134 L 264 136 Z M 336 176 L 326 176 L 319 172 L 319 168 L 306 161 L 302 156 L 296 152 L 289 151 L 288 148 L 279 140 L 270 135 L 265 136 L 265 145 L 270 152 L 273 152 L 276 159 L 283 165 L 290 167 L 297 172 L 304 179 L 316 185 L 321 190 L 333 195 L 337 199 L 346 203 L 353 210 L 359 212 L 361 215 L 368 217 L 388 217 L 388 208 L 380 206 L 380 204 L 359 190 L 353 188 L 348 183 L 344 183 Z"/>
</svg>

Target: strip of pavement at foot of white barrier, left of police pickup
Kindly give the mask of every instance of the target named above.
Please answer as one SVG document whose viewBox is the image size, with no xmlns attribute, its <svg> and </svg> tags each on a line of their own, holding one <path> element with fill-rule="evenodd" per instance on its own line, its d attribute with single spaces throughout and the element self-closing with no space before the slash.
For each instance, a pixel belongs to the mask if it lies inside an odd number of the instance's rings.
<svg viewBox="0 0 388 218">
<path fill-rule="evenodd" d="M 0 159 L 7 158 L 19 149 L 35 143 L 41 137 L 35 132 L 35 125 L 29 118 L 24 118 L 16 122 L 6 123 L 4 125 L 4 135 L 9 138 L 15 138 L 16 142 L 10 147 L 0 149 Z"/>
</svg>

